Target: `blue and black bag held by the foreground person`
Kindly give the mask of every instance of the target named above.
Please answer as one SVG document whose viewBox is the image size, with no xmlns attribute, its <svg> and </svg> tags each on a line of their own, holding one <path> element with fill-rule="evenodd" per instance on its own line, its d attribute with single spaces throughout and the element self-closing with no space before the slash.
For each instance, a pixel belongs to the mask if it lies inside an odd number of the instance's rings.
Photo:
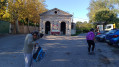
<svg viewBox="0 0 119 67">
<path fill-rule="evenodd" d="M 44 56 L 45 56 L 45 52 L 43 52 L 41 47 L 38 47 L 37 51 L 33 54 L 33 60 L 35 62 L 38 62 L 41 59 L 43 59 Z"/>
</svg>

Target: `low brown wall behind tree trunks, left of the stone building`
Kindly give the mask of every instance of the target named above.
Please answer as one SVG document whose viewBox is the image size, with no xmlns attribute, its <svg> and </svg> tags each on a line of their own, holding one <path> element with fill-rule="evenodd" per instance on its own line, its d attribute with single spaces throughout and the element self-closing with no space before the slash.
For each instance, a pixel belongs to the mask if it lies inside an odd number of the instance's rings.
<svg viewBox="0 0 119 67">
<path fill-rule="evenodd" d="M 35 27 L 35 26 L 29 26 L 29 30 L 30 32 L 33 32 L 35 30 L 39 30 L 38 27 Z M 21 34 L 27 34 L 29 33 L 29 30 L 28 30 L 28 26 L 24 26 L 24 25 L 20 25 L 19 26 L 19 33 Z"/>
</svg>

